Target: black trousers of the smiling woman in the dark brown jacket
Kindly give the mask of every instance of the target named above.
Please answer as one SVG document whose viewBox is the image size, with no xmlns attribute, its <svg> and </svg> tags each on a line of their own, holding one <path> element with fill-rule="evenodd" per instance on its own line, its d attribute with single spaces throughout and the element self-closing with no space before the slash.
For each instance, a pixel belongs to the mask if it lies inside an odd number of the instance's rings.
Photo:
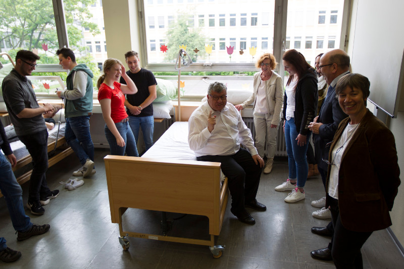
<svg viewBox="0 0 404 269">
<path fill-rule="evenodd" d="M 330 197 L 334 235 L 331 255 L 336 268 L 363 268 L 361 248 L 372 232 L 354 232 L 342 226 L 338 200 Z"/>
</svg>

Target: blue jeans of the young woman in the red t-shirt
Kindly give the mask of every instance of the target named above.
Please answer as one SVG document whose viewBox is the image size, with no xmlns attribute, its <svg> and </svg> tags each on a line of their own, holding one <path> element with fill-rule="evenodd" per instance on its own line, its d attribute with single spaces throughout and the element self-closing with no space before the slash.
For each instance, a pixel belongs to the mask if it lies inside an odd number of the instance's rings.
<svg viewBox="0 0 404 269">
<path fill-rule="evenodd" d="M 116 123 L 115 126 L 117 127 L 119 134 L 125 141 L 125 145 L 123 147 L 118 146 L 114 134 L 110 131 L 110 129 L 108 129 L 108 126 L 105 125 L 105 136 L 107 137 L 108 144 L 110 144 L 111 155 L 124 156 L 126 151 L 128 156 L 139 156 L 139 153 L 137 153 L 135 137 L 133 136 L 132 130 L 129 127 L 129 123 L 119 122 Z"/>
</svg>

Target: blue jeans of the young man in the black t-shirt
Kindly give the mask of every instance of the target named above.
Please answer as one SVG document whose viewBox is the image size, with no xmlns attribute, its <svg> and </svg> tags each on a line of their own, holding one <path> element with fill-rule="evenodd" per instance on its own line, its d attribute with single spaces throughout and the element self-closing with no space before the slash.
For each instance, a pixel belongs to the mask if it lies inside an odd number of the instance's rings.
<svg viewBox="0 0 404 269">
<path fill-rule="evenodd" d="M 133 117 L 129 116 L 129 125 L 135 137 L 136 144 L 139 140 L 139 128 L 142 128 L 146 151 L 153 146 L 153 132 L 155 130 L 155 119 L 153 116 Z"/>
</svg>

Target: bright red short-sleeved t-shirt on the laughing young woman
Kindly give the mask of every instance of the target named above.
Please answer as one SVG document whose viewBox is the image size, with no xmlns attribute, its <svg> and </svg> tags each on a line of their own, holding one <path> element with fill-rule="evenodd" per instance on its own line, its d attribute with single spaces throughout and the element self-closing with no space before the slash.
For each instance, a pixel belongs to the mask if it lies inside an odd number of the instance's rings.
<svg viewBox="0 0 404 269">
<path fill-rule="evenodd" d="M 125 95 L 121 91 L 121 83 L 114 81 L 113 89 L 105 83 L 101 84 L 98 89 L 98 101 L 106 98 L 111 99 L 111 118 L 114 123 L 128 118 L 128 114 L 125 111 Z"/>
</svg>

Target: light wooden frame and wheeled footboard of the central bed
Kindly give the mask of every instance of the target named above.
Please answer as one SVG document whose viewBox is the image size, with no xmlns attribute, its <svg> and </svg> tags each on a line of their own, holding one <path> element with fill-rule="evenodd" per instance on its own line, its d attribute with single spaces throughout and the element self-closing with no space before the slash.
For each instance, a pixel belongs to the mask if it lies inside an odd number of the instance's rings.
<svg viewBox="0 0 404 269">
<path fill-rule="evenodd" d="M 196 160 L 107 155 L 105 158 L 111 220 L 119 224 L 119 241 L 129 248 L 125 236 L 210 246 L 214 257 L 224 246 L 215 245 L 215 235 L 222 229 L 228 200 L 228 182 L 222 188 L 220 163 Z M 126 209 L 207 216 L 211 240 L 199 240 L 123 231 L 122 214 Z"/>
</svg>

